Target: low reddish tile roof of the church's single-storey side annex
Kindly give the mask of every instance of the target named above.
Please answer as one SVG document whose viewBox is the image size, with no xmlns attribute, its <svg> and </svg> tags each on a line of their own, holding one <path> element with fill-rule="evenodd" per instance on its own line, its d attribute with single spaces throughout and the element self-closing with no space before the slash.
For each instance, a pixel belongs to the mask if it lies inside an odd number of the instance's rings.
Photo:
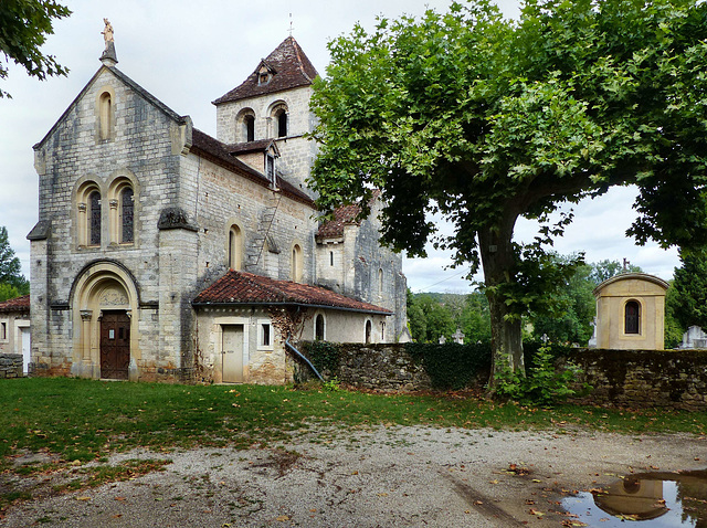
<svg viewBox="0 0 707 528">
<path fill-rule="evenodd" d="M 275 281 L 247 272 L 229 271 L 223 277 L 201 292 L 192 302 L 194 306 L 208 305 L 305 305 L 351 311 L 391 315 L 392 311 L 369 303 L 362 303 L 329 289 Z"/>
</svg>

